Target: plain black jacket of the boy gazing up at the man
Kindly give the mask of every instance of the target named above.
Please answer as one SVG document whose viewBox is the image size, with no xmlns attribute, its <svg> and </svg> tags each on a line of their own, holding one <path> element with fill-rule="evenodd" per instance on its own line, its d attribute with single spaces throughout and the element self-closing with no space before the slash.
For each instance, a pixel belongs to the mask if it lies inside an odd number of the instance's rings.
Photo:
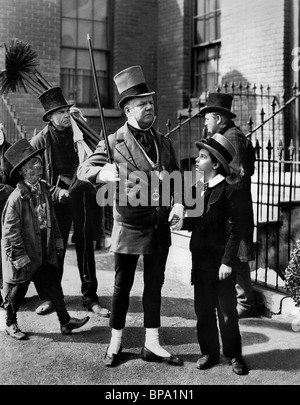
<svg viewBox="0 0 300 405">
<path fill-rule="evenodd" d="M 198 218 L 185 219 L 192 232 L 190 250 L 193 271 L 218 271 L 233 267 L 241 240 L 240 190 L 225 180 L 211 189 L 207 207 Z"/>
</svg>

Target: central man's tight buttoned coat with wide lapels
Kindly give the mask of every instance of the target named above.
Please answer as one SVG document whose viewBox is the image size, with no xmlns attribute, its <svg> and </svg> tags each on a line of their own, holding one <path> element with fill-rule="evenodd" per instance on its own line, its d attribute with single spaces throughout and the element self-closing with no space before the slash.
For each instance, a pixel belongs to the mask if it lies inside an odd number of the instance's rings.
<svg viewBox="0 0 300 405">
<path fill-rule="evenodd" d="M 151 184 L 149 180 L 156 170 L 163 170 L 167 173 L 177 171 L 180 177 L 182 174 L 170 139 L 156 130 L 152 131 L 158 148 L 157 169 L 149 163 L 127 123 L 108 137 L 114 161 L 119 167 L 121 180 L 124 179 L 123 182 L 120 181 L 120 187 L 119 184 L 117 185 L 114 201 L 112 251 L 117 253 L 153 254 L 165 250 L 171 245 L 168 216 L 173 202 L 181 202 L 181 195 L 176 195 L 176 190 L 171 188 L 170 194 L 175 200 L 166 205 L 159 201 L 155 205 L 153 201 L 150 201 L 155 190 L 148 189 L 147 185 Z M 79 166 L 77 176 L 80 180 L 88 180 L 95 184 L 99 169 L 106 163 L 105 142 L 101 141 L 94 154 Z M 122 164 L 126 165 L 125 173 L 122 170 Z M 137 171 L 141 173 L 139 184 L 143 190 L 140 194 L 144 205 L 123 205 L 120 196 L 123 195 L 129 199 L 137 190 L 134 181 L 134 172 L 137 173 Z M 146 201 L 147 197 L 146 200 L 143 199 L 142 194 L 148 196 L 149 200 Z"/>
</svg>

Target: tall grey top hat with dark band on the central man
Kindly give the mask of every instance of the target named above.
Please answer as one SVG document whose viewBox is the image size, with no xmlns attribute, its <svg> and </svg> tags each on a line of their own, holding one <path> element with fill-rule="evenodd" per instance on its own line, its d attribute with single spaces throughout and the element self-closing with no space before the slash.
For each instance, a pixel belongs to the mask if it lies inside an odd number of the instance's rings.
<svg viewBox="0 0 300 405">
<path fill-rule="evenodd" d="M 149 90 L 142 68 L 139 65 L 122 70 L 115 75 L 114 81 L 120 94 L 119 106 L 121 108 L 130 98 L 155 94 L 154 91 Z"/>
</svg>

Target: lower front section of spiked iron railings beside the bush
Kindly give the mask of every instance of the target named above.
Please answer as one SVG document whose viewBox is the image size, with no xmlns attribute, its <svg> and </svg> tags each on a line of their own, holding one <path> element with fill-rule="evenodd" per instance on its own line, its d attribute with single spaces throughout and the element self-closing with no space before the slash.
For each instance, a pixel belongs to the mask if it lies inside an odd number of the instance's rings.
<svg viewBox="0 0 300 405">
<path fill-rule="evenodd" d="M 256 141 L 256 168 L 252 177 L 255 261 L 252 278 L 276 290 L 285 290 L 284 271 L 295 241 L 300 236 L 300 156 L 282 142 L 262 147 Z"/>
</svg>

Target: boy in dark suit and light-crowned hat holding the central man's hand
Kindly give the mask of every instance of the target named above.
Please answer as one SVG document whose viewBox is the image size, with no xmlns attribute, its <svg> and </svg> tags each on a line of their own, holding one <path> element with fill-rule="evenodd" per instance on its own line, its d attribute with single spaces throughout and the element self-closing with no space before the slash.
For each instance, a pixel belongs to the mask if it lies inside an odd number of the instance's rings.
<svg viewBox="0 0 300 405">
<path fill-rule="evenodd" d="M 200 217 L 188 217 L 184 223 L 192 231 L 192 284 L 201 350 L 196 367 L 204 370 L 219 362 L 218 320 L 224 356 L 230 360 L 233 372 L 242 375 L 248 370 L 241 353 L 233 270 L 241 240 L 241 191 L 226 181 L 236 152 L 233 144 L 218 133 L 196 142 L 196 146 L 196 170 L 203 173 L 205 186 L 204 210 Z"/>
</svg>

